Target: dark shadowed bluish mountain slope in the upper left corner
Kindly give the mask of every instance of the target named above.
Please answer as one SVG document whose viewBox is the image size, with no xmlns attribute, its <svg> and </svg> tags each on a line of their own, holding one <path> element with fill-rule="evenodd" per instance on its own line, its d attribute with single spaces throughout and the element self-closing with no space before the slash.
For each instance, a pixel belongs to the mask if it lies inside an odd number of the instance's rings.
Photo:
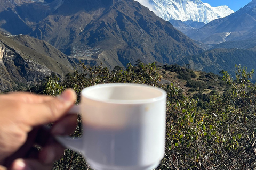
<svg viewBox="0 0 256 170">
<path fill-rule="evenodd" d="M 13 35 L 28 34 L 62 3 L 63 0 L 0 0 L 1 31 Z"/>
</svg>

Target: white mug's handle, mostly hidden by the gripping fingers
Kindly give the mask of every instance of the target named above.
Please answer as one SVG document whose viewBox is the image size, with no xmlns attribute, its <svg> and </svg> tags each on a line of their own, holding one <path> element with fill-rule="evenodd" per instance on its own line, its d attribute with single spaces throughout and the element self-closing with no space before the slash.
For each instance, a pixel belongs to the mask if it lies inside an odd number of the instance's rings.
<svg viewBox="0 0 256 170">
<path fill-rule="evenodd" d="M 80 111 L 79 105 L 74 105 L 68 111 L 68 114 L 77 114 Z M 55 136 L 55 139 L 68 149 L 81 153 L 83 151 L 83 139 L 82 138 L 71 138 L 69 136 Z"/>
</svg>

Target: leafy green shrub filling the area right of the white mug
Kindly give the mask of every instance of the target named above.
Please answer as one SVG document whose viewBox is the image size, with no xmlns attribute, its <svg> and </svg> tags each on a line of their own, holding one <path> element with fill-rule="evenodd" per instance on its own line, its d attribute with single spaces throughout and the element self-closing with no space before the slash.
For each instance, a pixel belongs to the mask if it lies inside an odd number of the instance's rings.
<svg viewBox="0 0 256 170">
<path fill-rule="evenodd" d="M 256 89 L 247 81 L 252 73 L 238 67 L 236 82 L 225 73 L 231 88 L 212 95 L 205 108 L 193 99 L 169 105 L 164 160 L 170 169 L 256 168 Z"/>
</svg>

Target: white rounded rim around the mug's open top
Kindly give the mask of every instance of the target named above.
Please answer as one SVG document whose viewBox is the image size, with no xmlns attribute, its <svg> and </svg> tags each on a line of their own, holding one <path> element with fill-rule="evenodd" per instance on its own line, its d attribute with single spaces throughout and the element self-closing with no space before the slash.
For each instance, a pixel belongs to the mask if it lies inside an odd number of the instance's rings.
<svg viewBox="0 0 256 170">
<path fill-rule="evenodd" d="M 89 95 L 86 95 L 86 91 L 95 89 L 95 88 L 103 88 L 103 87 L 113 87 L 113 86 L 135 86 L 135 87 L 145 87 L 148 89 L 153 89 L 153 90 L 157 90 L 158 92 L 161 92 L 161 95 L 158 97 L 154 97 L 154 98 L 149 98 L 149 99 L 138 99 L 138 100 L 115 100 L 115 99 L 109 99 L 109 100 L 105 100 L 105 99 L 99 99 L 99 98 L 94 98 L 91 97 Z M 146 103 L 153 103 L 155 101 L 159 101 L 162 99 L 165 99 L 167 97 L 167 93 L 165 90 L 159 88 L 159 87 L 154 87 L 151 85 L 147 85 L 147 84 L 139 84 L 139 83 L 106 83 L 106 84 L 97 84 L 97 85 L 93 85 L 93 86 L 89 86 L 86 87 L 84 89 L 82 89 L 81 91 L 81 96 L 85 97 L 87 99 L 93 100 L 93 101 L 98 101 L 98 102 L 102 102 L 102 103 L 111 103 L 111 104 L 146 104 Z"/>
</svg>

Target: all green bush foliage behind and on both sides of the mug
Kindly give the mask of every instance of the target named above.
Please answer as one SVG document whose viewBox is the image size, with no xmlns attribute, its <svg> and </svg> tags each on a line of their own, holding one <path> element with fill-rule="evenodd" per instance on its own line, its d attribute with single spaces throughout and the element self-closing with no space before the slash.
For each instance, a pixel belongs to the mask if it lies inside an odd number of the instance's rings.
<svg viewBox="0 0 256 170">
<path fill-rule="evenodd" d="M 73 88 L 79 94 L 94 84 L 117 82 L 150 84 L 167 92 L 166 150 L 157 169 L 256 169 L 256 87 L 249 81 L 253 71 L 236 66 L 235 81 L 223 71 L 228 90 L 222 94 L 213 92 L 201 104 L 197 98 L 203 95 L 183 96 L 175 84 L 159 83 L 162 77 L 155 63 L 128 64 L 125 70 L 115 67 L 112 71 L 101 65 L 82 67 L 83 73 L 68 74 L 62 82 L 49 78 L 44 93 L 58 95 L 66 88 Z M 179 67 L 173 65 L 168 69 L 179 70 Z M 193 81 L 189 83 L 187 86 L 194 86 Z M 78 126 L 74 135 L 80 134 Z M 66 150 L 54 169 L 90 167 L 81 155 Z"/>
</svg>

